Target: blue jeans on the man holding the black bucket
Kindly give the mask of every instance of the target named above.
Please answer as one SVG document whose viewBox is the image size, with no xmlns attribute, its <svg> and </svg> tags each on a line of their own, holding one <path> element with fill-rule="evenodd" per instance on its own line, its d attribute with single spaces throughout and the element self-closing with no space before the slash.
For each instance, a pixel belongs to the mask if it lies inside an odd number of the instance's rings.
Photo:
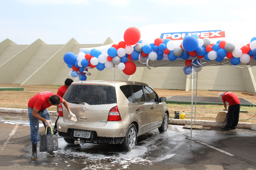
<svg viewBox="0 0 256 170">
<path fill-rule="evenodd" d="M 39 120 L 32 115 L 32 112 L 33 108 L 28 107 L 28 117 L 30 122 L 30 141 L 32 144 L 35 144 L 39 141 Z M 38 114 L 42 116 L 44 119 L 51 121 L 51 116 L 49 114 L 48 109 L 38 111 Z M 44 124 L 44 122 L 42 123 Z M 46 128 L 45 124 L 44 127 Z M 52 134 L 50 127 L 47 128 L 47 134 Z"/>
</svg>

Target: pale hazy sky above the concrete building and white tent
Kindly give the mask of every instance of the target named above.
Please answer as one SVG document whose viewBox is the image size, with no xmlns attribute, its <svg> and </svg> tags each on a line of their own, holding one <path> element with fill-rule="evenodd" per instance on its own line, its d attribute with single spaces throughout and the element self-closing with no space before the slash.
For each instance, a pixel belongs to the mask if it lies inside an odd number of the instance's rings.
<svg viewBox="0 0 256 170">
<path fill-rule="evenodd" d="M 256 21 L 255 6 L 255 0 L 3 0 L 0 42 L 116 42 L 131 26 L 165 23 L 234 22 L 246 28 Z"/>
</svg>

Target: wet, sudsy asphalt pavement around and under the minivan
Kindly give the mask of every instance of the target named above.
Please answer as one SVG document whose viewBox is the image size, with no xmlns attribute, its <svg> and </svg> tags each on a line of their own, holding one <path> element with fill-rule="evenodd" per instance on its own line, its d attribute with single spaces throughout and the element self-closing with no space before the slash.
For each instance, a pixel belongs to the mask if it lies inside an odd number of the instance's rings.
<svg viewBox="0 0 256 170">
<path fill-rule="evenodd" d="M 40 133 L 44 127 L 40 126 Z M 124 152 L 116 144 L 67 144 L 58 138 L 55 156 L 39 152 L 31 156 L 30 127 L 24 117 L 0 114 L 0 169 L 72 170 L 169 170 L 169 169 L 256 169 L 256 131 L 220 128 L 192 130 L 168 125 L 138 137 L 135 150 Z M 190 145 L 192 144 L 192 145 Z"/>
</svg>

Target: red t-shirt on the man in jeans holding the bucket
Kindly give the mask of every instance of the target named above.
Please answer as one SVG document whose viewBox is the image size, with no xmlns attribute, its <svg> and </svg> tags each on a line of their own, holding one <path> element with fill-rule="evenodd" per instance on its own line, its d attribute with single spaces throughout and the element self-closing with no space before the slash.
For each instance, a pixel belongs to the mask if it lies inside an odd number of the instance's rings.
<svg viewBox="0 0 256 170">
<path fill-rule="evenodd" d="M 28 107 L 30 108 L 36 108 L 37 110 L 45 110 L 46 108 L 52 106 L 49 104 L 48 99 L 50 96 L 56 95 L 55 93 L 52 93 L 50 91 L 42 91 L 38 94 L 36 94 L 34 97 L 32 97 L 28 101 Z M 62 102 L 63 99 L 60 97 L 60 102 Z"/>
</svg>

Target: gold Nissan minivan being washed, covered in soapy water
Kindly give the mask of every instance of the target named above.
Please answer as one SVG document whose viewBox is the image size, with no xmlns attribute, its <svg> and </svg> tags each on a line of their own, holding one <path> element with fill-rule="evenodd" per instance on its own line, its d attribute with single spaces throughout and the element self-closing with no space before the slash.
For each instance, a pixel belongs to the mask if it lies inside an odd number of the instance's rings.
<svg viewBox="0 0 256 170">
<path fill-rule="evenodd" d="M 169 111 L 166 97 L 152 87 L 132 81 L 73 82 L 63 96 L 77 117 L 71 121 L 60 104 L 58 134 L 67 143 L 121 144 L 125 151 L 135 148 L 137 137 L 158 128 L 165 132 Z"/>
</svg>

